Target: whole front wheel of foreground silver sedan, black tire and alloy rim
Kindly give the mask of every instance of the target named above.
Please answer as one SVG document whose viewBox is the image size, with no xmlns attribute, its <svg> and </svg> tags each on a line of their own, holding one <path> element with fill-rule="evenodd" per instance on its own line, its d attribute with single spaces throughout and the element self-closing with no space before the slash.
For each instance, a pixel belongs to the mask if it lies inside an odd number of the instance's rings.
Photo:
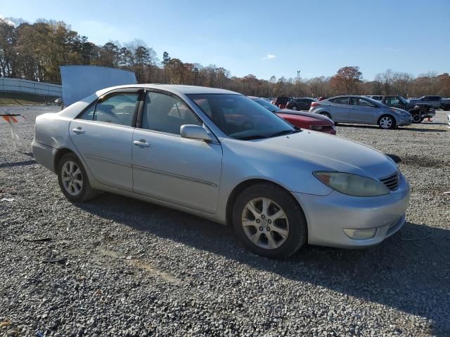
<svg viewBox="0 0 450 337">
<path fill-rule="evenodd" d="M 272 218 L 276 214 L 281 216 Z M 233 227 L 250 251 L 266 258 L 287 258 L 307 242 L 307 221 L 300 205 L 271 183 L 252 185 L 240 193 L 233 206 Z"/>
</svg>

